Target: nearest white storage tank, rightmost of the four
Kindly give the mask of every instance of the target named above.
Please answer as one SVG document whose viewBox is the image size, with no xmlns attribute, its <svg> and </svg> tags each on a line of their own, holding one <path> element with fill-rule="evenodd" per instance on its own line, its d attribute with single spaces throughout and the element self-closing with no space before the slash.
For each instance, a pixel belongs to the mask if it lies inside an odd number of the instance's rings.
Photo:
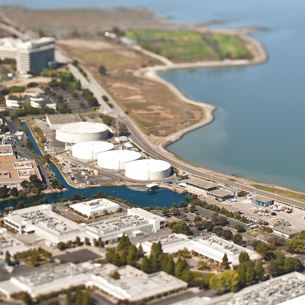
<svg viewBox="0 0 305 305">
<path fill-rule="evenodd" d="M 125 176 L 135 180 L 158 180 L 169 177 L 170 174 L 170 163 L 162 160 L 136 160 L 125 166 Z"/>
</svg>

